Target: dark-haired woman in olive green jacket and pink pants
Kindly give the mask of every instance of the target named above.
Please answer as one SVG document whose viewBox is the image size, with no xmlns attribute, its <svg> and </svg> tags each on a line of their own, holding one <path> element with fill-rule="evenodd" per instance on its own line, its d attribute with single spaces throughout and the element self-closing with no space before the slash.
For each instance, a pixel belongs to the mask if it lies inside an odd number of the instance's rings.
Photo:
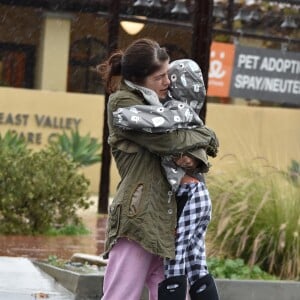
<svg viewBox="0 0 300 300">
<path fill-rule="evenodd" d="M 103 300 L 140 300 L 144 285 L 149 299 L 158 297 L 164 279 L 163 258 L 174 258 L 176 201 L 160 165 L 160 156 L 200 148 L 208 136 L 201 128 L 165 134 L 123 130 L 113 112 L 166 97 L 169 57 L 150 39 L 133 42 L 100 66 L 111 93 L 108 103 L 109 144 L 121 181 L 109 208 L 104 257 Z"/>
</svg>

